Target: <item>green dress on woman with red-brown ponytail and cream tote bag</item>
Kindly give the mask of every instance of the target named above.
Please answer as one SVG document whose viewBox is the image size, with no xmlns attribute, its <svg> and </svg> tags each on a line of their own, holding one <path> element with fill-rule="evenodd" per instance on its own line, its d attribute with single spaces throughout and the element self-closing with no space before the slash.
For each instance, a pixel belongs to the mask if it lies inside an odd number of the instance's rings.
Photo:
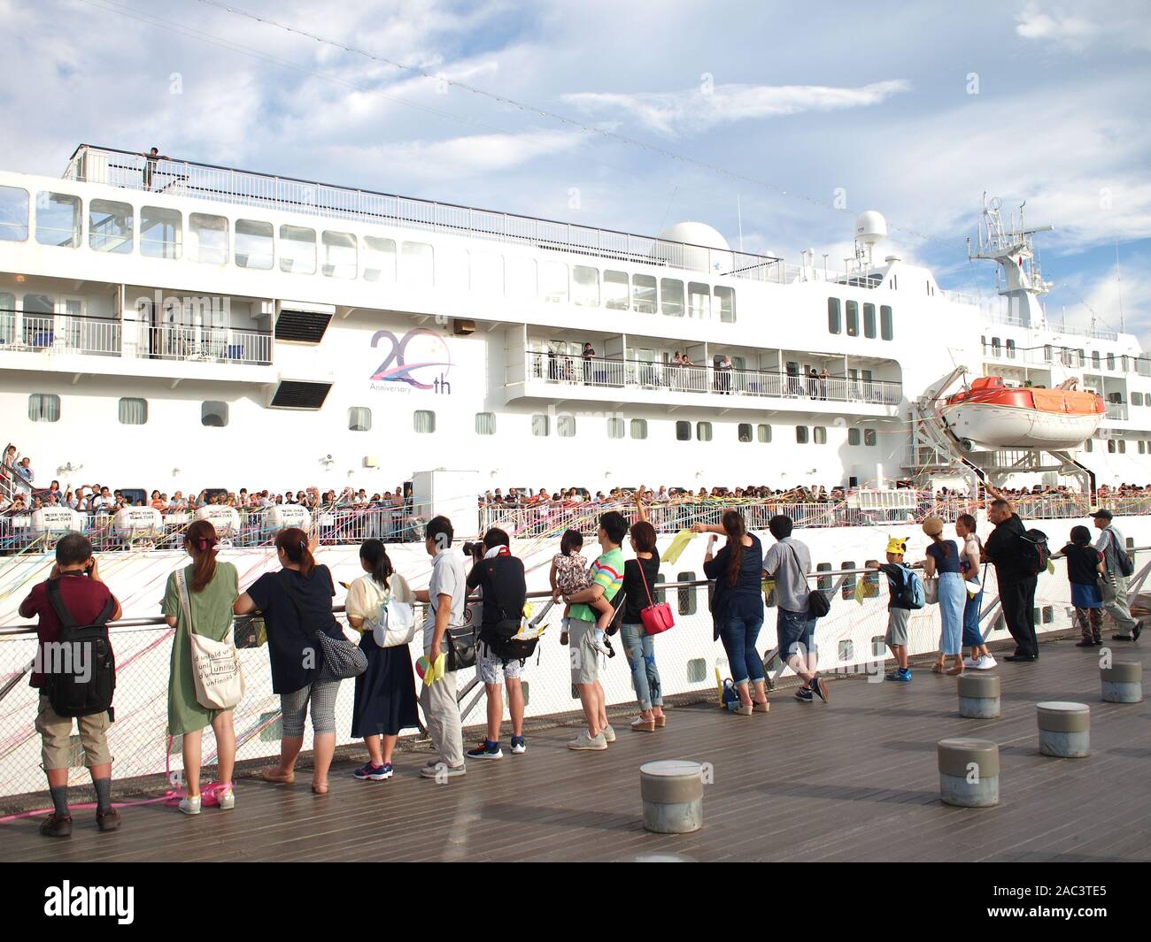
<svg viewBox="0 0 1151 942">
<path fill-rule="evenodd" d="M 184 567 L 188 584 L 188 604 L 192 610 L 196 634 L 213 641 L 223 641 L 233 623 L 231 606 L 239 598 L 239 579 L 230 562 L 216 562 L 212 581 L 200 592 L 192 591 L 192 566 Z M 176 618 L 176 636 L 171 645 L 171 673 L 168 677 L 168 735 L 180 736 L 196 733 L 223 713 L 208 710 L 196 699 L 196 681 L 192 677 L 192 650 L 188 640 L 188 626 L 180 606 L 180 585 L 176 574 L 168 576 L 163 592 L 161 612 Z"/>
</svg>

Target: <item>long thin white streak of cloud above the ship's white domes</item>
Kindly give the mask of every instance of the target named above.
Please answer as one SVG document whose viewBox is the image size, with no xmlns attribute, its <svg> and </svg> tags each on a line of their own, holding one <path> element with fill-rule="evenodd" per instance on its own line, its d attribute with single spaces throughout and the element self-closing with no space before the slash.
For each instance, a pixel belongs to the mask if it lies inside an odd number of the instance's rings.
<svg viewBox="0 0 1151 942">
<path fill-rule="evenodd" d="M 905 79 L 859 87 L 829 85 L 715 85 L 679 92 L 574 92 L 563 100 L 585 112 L 623 110 L 665 137 L 699 133 L 718 124 L 878 105 L 906 92 Z"/>
</svg>

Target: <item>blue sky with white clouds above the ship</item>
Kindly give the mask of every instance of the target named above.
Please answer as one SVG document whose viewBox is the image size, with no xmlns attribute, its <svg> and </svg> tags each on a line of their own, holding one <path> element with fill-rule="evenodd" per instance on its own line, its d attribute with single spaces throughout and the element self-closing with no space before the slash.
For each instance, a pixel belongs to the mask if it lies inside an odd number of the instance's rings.
<svg viewBox="0 0 1151 942">
<path fill-rule="evenodd" d="M 982 296 L 986 192 L 1054 227 L 1049 319 L 1151 349 L 1145 0 L 0 0 L 0 83 L 8 170 L 155 145 L 832 267 L 878 209 Z"/>
</svg>

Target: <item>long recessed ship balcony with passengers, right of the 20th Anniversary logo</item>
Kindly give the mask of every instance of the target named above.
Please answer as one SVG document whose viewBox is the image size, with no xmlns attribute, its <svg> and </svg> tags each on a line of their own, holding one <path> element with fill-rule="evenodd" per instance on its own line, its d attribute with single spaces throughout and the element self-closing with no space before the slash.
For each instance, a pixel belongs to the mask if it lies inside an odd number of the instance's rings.
<svg viewBox="0 0 1151 942">
<path fill-rule="evenodd" d="M 894 415 L 902 384 L 881 380 L 808 377 L 757 369 L 716 369 L 640 360 L 592 359 L 525 350 L 508 365 L 508 399 L 582 399 L 666 405 L 857 412 Z M 848 408 L 832 409 L 836 403 Z"/>
</svg>

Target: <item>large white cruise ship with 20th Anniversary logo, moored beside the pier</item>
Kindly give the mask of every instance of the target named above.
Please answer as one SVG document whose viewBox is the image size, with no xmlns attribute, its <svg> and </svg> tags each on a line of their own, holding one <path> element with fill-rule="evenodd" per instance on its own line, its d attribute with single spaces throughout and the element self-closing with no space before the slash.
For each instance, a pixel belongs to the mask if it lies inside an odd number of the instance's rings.
<svg viewBox="0 0 1151 942">
<path fill-rule="evenodd" d="M 594 534 L 594 515 L 478 513 L 479 495 L 843 488 L 840 504 L 794 515 L 829 573 L 821 588 L 837 593 L 825 657 L 854 669 L 882 658 L 884 602 L 853 598 L 851 570 L 882 556 L 889 531 L 922 549 L 922 493 L 1066 487 L 1060 503 L 1028 508 L 1058 549 L 1100 485 L 1151 478 L 1151 359 L 1133 335 L 1046 316 L 1038 231 L 984 198 L 970 254 L 997 266 L 999 292 L 980 299 L 902 260 L 878 212 L 859 216 L 854 256 L 832 267 L 811 250 L 792 261 L 735 251 L 698 221 L 640 236 L 82 145 L 60 177 L 0 171 L 2 437 L 31 457 L 38 487 L 372 493 L 411 482 L 407 523 L 447 512 L 460 537 L 504 523 L 533 589 L 563 527 Z M 178 560 L 165 534 L 188 516 L 138 510 L 5 516 L 0 623 L 18 623 L 52 535 L 74 527 L 109 551 L 125 615 L 154 616 Z M 748 507 L 757 530 L 775 510 Z M 669 514 L 662 545 L 711 512 Z M 254 523 L 200 513 L 231 537 L 222 553 L 244 583 L 274 564 L 276 526 L 327 528 L 320 557 L 340 580 L 358 575 L 360 538 L 396 533 L 299 507 Z M 1129 545 L 1151 542 L 1146 518 L 1115 513 Z M 702 543 L 664 567 L 668 583 L 700 579 Z M 392 554 L 426 580 L 421 543 Z M 1041 627 L 1067 627 L 1066 580 L 1045 585 Z M 678 592 L 685 625 L 661 640 L 666 692 L 714 690 L 722 650 L 706 589 Z M 931 616 L 917 616 L 918 650 L 936 644 Z M 159 633 L 136 630 L 130 659 L 163 676 Z M 540 650 L 529 712 L 570 710 L 563 649 Z M 264 652 L 245 657 L 267 687 Z M 609 699 L 620 703 L 630 681 L 617 673 Z M 145 687 L 122 684 L 158 711 L 121 734 L 136 736 L 122 751 L 139 752 L 142 773 L 165 757 L 162 697 Z M 274 700 L 260 696 L 245 748 L 269 750 Z M 31 756 L 30 740 L 0 732 L 6 767 L 14 750 Z"/>
</svg>

